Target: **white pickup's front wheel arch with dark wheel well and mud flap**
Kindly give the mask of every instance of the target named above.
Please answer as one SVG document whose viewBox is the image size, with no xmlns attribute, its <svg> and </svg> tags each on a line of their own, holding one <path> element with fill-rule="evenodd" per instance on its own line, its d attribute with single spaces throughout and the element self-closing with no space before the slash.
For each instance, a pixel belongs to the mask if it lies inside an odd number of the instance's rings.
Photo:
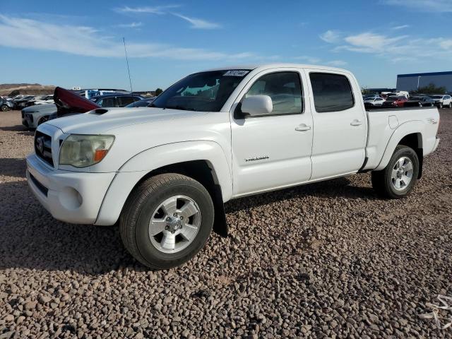
<svg viewBox="0 0 452 339">
<path fill-rule="evenodd" d="M 213 141 L 186 141 L 157 146 L 131 157 L 110 184 L 95 225 L 113 225 L 131 191 L 143 180 L 179 173 L 203 184 L 215 206 L 214 230 L 227 234 L 223 203 L 232 196 L 232 176 L 225 152 Z"/>
</svg>

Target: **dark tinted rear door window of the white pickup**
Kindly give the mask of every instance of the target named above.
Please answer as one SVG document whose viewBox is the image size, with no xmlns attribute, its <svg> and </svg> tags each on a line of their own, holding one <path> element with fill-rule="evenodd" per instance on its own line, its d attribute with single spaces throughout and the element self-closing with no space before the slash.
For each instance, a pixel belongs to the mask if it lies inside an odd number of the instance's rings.
<svg viewBox="0 0 452 339">
<path fill-rule="evenodd" d="M 352 87 L 346 76 L 331 73 L 310 73 L 316 112 L 337 112 L 355 105 Z"/>
</svg>

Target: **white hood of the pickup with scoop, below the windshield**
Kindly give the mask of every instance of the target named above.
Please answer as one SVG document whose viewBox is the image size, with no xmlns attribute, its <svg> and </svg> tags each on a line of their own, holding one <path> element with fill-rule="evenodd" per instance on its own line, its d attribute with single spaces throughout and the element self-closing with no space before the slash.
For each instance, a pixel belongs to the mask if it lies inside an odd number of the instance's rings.
<svg viewBox="0 0 452 339">
<path fill-rule="evenodd" d="M 109 108 L 94 109 L 83 114 L 49 120 L 46 124 L 55 126 L 64 133 L 99 134 L 136 124 L 153 124 L 157 121 L 189 119 L 204 114 L 206 112 L 191 112 L 155 107 Z"/>
</svg>

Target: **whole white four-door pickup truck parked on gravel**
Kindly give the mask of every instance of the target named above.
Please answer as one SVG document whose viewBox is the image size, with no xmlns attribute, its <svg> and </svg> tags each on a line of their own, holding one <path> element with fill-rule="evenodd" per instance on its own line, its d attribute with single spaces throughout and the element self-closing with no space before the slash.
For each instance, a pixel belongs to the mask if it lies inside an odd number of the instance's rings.
<svg viewBox="0 0 452 339">
<path fill-rule="evenodd" d="M 94 109 L 41 124 L 27 178 L 58 220 L 119 223 L 145 266 L 180 265 L 233 198 L 371 172 L 407 196 L 439 143 L 434 108 L 366 111 L 355 76 L 299 64 L 203 71 L 146 108 Z"/>
</svg>

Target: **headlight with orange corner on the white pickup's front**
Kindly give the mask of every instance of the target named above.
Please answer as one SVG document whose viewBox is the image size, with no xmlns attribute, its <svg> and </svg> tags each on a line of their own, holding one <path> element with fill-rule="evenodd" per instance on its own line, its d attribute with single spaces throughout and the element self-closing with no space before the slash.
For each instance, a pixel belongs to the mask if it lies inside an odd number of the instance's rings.
<svg viewBox="0 0 452 339">
<path fill-rule="evenodd" d="M 59 150 L 59 165 L 87 167 L 100 162 L 112 147 L 114 136 L 71 134 Z"/>
</svg>

